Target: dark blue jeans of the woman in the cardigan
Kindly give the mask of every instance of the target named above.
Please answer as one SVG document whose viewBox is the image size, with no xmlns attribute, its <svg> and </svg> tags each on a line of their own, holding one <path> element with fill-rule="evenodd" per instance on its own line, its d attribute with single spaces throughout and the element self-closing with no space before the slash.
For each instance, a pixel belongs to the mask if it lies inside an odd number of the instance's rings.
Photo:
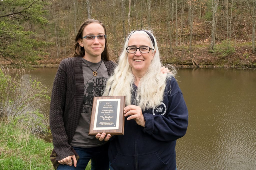
<svg viewBox="0 0 256 170">
<path fill-rule="evenodd" d="M 91 170 L 109 170 L 109 157 L 108 157 L 109 142 L 94 148 L 79 148 L 73 147 L 80 158 L 77 161 L 77 167 L 68 165 L 59 165 L 58 170 L 84 170 L 90 160 Z"/>
</svg>

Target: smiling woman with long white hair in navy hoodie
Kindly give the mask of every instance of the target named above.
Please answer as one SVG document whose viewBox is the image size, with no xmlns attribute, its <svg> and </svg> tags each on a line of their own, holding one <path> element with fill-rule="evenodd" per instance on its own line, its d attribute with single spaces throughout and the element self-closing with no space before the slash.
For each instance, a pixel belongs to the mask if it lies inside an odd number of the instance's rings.
<svg viewBox="0 0 256 170">
<path fill-rule="evenodd" d="M 188 110 L 175 68 L 162 74 L 161 65 L 152 32 L 132 31 L 103 94 L 126 96 L 124 135 L 111 138 L 110 169 L 176 169 L 176 140 L 186 133 Z"/>
</svg>

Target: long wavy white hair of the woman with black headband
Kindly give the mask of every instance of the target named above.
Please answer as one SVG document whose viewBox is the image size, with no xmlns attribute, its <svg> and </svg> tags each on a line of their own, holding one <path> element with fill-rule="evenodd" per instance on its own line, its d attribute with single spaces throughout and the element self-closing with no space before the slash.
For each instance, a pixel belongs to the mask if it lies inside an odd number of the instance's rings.
<svg viewBox="0 0 256 170">
<path fill-rule="evenodd" d="M 148 32 L 152 34 L 151 31 Z M 135 77 L 132 74 L 132 68 L 128 62 L 128 55 L 126 51 L 131 34 L 132 36 L 135 36 L 136 34 L 143 34 L 147 36 L 151 42 L 151 48 L 155 49 L 153 60 L 145 74 L 141 77 L 135 96 L 132 96 L 135 91 Z M 126 106 L 131 103 L 135 103 L 137 106 L 140 106 L 142 110 L 154 108 L 162 102 L 166 86 L 166 78 L 175 76 L 176 70 L 174 67 L 170 66 L 170 73 L 163 74 L 160 72 L 162 63 L 159 56 L 156 38 L 153 34 L 152 36 L 155 41 L 154 47 L 149 35 L 145 31 L 130 32 L 126 38 L 123 51 L 119 56 L 118 66 L 115 68 L 114 74 L 109 77 L 106 83 L 103 96 L 126 96 Z"/>
</svg>

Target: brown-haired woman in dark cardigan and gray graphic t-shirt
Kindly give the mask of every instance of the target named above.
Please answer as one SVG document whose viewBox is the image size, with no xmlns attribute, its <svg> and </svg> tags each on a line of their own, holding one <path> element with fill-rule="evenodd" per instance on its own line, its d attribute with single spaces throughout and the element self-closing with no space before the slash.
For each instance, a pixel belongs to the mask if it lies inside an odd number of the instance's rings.
<svg viewBox="0 0 256 170">
<path fill-rule="evenodd" d="M 85 169 L 89 160 L 91 169 L 109 169 L 109 144 L 88 136 L 92 99 L 101 96 L 114 67 L 104 24 L 83 22 L 75 42 L 73 57 L 61 61 L 52 88 L 50 159 L 55 169 Z"/>
</svg>

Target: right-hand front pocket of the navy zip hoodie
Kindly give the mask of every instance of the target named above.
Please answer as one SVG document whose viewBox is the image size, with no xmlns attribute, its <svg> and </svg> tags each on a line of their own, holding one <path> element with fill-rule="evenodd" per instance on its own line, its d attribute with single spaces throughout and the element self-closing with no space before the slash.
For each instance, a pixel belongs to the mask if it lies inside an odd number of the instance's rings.
<svg viewBox="0 0 256 170">
<path fill-rule="evenodd" d="M 143 170 L 167 169 L 168 162 L 163 162 L 156 152 L 138 154 L 138 167 Z"/>
</svg>

